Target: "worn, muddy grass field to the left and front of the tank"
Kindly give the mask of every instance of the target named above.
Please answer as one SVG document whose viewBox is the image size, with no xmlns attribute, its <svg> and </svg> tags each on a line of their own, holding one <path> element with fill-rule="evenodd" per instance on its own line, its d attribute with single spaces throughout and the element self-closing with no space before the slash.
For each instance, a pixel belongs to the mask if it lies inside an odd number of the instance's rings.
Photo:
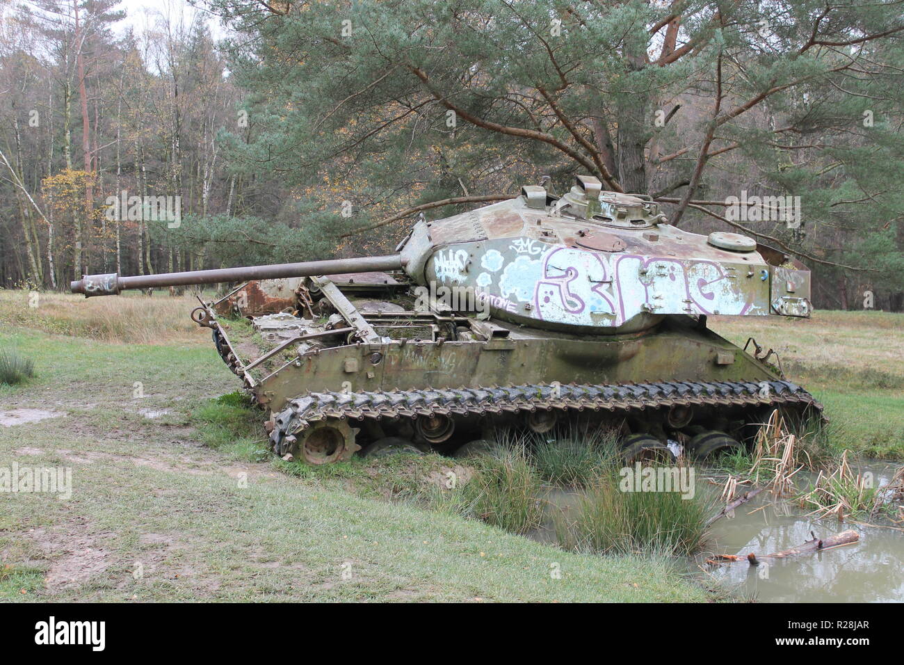
<svg viewBox="0 0 904 665">
<path fill-rule="evenodd" d="M 188 321 L 192 308 L 189 297 L 43 294 L 30 308 L 27 293 L 0 291 L 0 348 L 33 358 L 36 373 L 0 385 L 0 412 L 56 415 L 0 425 L 0 467 L 72 472 L 69 500 L 0 497 L 0 599 L 713 597 L 664 559 L 572 554 L 418 508 L 403 493 L 390 502 L 404 489 L 398 473 L 354 467 L 371 481 L 367 496 L 341 473 L 282 472 L 252 432 L 232 441 L 234 430 L 217 424 L 211 398 L 237 385 Z M 141 343 L 128 343 L 133 326 L 147 327 L 135 332 Z"/>
</svg>

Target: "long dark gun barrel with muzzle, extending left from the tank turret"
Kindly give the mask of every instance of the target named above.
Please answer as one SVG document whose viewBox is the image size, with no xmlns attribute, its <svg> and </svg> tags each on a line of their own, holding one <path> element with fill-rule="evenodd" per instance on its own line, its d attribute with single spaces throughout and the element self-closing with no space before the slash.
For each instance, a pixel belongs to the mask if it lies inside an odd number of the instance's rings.
<svg viewBox="0 0 904 665">
<path fill-rule="evenodd" d="M 157 275 L 120 277 L 116 272 L 103 275 L 84 275 L 71 282 L 72 293 L 89 296 L 118 295 L 127 289 L 150 289 L 193 284 L 216 284 L 223 281 L 278 280 L 285 277 L 315 277 L 337 275 L 346 272 L 395 271 L 405 266 L 400 254 L 366 256 L 355 259 L 328 259 L 301 263 L 276 263 L 273 265 L 221 268 L 211 271 L 164 272 Z"/>
</svg>

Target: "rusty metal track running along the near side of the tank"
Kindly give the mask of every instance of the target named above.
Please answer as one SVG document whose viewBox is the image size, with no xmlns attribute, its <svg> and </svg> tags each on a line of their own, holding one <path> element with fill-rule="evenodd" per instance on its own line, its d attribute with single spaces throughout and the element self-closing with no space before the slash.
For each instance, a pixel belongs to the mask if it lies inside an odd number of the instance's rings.
<svg viewBox="0 0 904 665">
<path fill-rule="evenodd" d="M 645 409 L 683 406 L 781 406 L 801 411 L 823 406 L 813 395 L 789 381 L 664 382 L 611 385 L 510 385 L 492 388 L 395 390 L 367 393 L 325 392 L 296 397 L 275 415 L 270 432 L 273 451 L 283 456 L 298 433 L 330 418 L 340 420 L 433 416 L 560 413 L 586 410 L 629 415 Z"/>
</svg>

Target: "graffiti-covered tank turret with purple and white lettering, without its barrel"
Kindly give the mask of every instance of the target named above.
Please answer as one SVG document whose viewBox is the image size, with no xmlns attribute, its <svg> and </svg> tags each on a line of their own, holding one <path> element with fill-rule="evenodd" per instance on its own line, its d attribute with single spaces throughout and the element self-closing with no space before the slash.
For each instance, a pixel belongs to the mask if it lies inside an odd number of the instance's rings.
<svg viewBox="0 0 904 665">
<path fill-rule="evenodd" d="M 558 199 L 529 186 L 419 223 L 401 254 L 419 283 L 473 289 L 494 317 L 537 328 L 611 334 L 667 315 L 810 313 L 799 263 L 770 265 L 737 233 L 685 232 L 649 197 L 603 192 L 590 176 Z"/>
</svg>

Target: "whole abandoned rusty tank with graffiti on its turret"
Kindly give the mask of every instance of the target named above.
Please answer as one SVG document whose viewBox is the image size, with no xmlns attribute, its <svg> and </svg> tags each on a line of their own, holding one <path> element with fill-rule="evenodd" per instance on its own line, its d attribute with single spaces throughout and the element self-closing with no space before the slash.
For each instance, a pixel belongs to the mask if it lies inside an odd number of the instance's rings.
<svg viewBox="0 0 904 665">
<path fill-rule="evenodd" d="M 422 219 L 389 256 L 86 275 L 71 290 L 242 280 L 192 318 L 268 412 L 273 451 L 313 464 L 576 423 L 620 432 L 627 458 L 703 457 L 744 445 L 776 408 L 822 408 L 771 351 L 706 326 L 808 317 L 805 266 L 737 233 L 685 232 L 592 176 Z"/>
</svg>

